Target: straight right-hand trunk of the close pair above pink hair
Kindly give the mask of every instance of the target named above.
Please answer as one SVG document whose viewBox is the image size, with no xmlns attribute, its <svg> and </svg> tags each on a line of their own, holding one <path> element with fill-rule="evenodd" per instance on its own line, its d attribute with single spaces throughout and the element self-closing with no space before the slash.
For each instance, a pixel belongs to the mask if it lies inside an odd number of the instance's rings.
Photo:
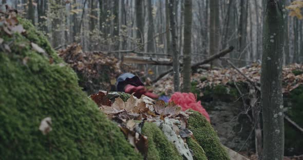
<svg viewBox="0 0 303 160">
<path fill-rule="evenodd" d="M 184 1 L 183 92 L 191 91 L 192 0 Z"/>
</svg>

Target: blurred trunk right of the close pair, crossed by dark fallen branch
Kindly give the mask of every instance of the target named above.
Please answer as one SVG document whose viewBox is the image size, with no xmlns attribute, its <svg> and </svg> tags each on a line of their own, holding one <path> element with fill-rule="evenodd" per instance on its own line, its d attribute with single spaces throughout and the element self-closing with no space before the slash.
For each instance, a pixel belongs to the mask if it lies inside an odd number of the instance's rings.
<svg viewBox="0 0 303 160">
<path fill-rule="evenodd" d="M 219 52 L 219 0 L 210 1 L 210 54 L 214 55 Z M 219 66 L 221 62 L 216 59 L 211 65 Z"/>
</svg>

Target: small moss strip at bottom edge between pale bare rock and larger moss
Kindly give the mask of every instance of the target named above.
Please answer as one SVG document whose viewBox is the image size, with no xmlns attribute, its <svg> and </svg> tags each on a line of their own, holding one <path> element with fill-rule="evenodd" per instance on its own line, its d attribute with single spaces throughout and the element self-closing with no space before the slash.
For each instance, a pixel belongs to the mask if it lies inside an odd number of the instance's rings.
<svg viewBox="0 0 303 160">
<path fill-rule="evenodd" d="M 186 143 L 188 147 L 194 153 L 194 160 L 207 160 L 204 150 L 193 138 L 186 138 Z"/>
</svg>

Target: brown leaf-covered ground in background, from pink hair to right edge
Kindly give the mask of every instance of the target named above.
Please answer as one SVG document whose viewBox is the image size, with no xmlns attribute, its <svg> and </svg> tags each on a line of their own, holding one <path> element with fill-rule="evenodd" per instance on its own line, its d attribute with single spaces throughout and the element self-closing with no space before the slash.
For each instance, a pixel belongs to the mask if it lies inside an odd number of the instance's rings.
<svg viewBox="0 0 303 160">
<path fill-rule="evenodd" d="M 252 64 L 247 67 L 239 68 L 239 70 L 251 79 L 257 86 L 260 85 L 261 65 Z M 289 93 L 298 86 L 303 84 L 303 65 L 292 64 L 283 67 L 283 93 Z M 180 78 L 182 79 L 182 78 Z M 247 78 L 239 74 L 233 68 L 219 69 L 219 70 L 199 70 L 192 76 L 192 85 L 196 89 L 201 90 L 206 87 L 214 87 L 218 85 L 229 85 L 231 83 L 247 83 Z M 166 76 L 160 79 L 153 85 L 154 91 L 158 94 L 165 93 L 166 95 L 173 94 L 173 77 Z M 163 92 L 164 91 L 164 92 Z M 203 94 L 198 95 L 203 96 Z"/>
</svg>

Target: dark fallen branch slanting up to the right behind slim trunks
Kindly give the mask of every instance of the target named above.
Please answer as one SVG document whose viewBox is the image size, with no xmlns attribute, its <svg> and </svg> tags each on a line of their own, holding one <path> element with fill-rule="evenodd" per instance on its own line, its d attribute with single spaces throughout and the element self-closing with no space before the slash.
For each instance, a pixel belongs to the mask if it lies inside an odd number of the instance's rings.
<svg viewBox="0 0 303 160">
<path fill-rule="evenodd" d="M 195 68 L 198 68 L 200 65 L 204 65 L 204 64 L 207 64 L 207 63 L 210 63 L 212 61 L 214 61 L 215 59 L 221 57 L 221 56 L 224 56 L 225 54 L 228 54 L 229 52 L 233 51 L 234 50 L 234 47 L 231 46 L 229 47 L 228 49 L 224 49 L 222 50 L 221 52 L 217 53 L 217 54 L 214 54 L 212 55 L 211 57 L 205 59 L 204 61 L 202 62 L 198 62 L 198 63 L 195 63 L 192 65 L 192 69 L 195 69 Z M 169 69 L 167 70 L 166 72 L 160 74 L 152 83 L 155 83 L 157 81 L 159 81 L 159 79 L 161 79 L 162 77 L 164 77 L 166 74 L 172 72 L 173 69 Z"/>
</svg>

